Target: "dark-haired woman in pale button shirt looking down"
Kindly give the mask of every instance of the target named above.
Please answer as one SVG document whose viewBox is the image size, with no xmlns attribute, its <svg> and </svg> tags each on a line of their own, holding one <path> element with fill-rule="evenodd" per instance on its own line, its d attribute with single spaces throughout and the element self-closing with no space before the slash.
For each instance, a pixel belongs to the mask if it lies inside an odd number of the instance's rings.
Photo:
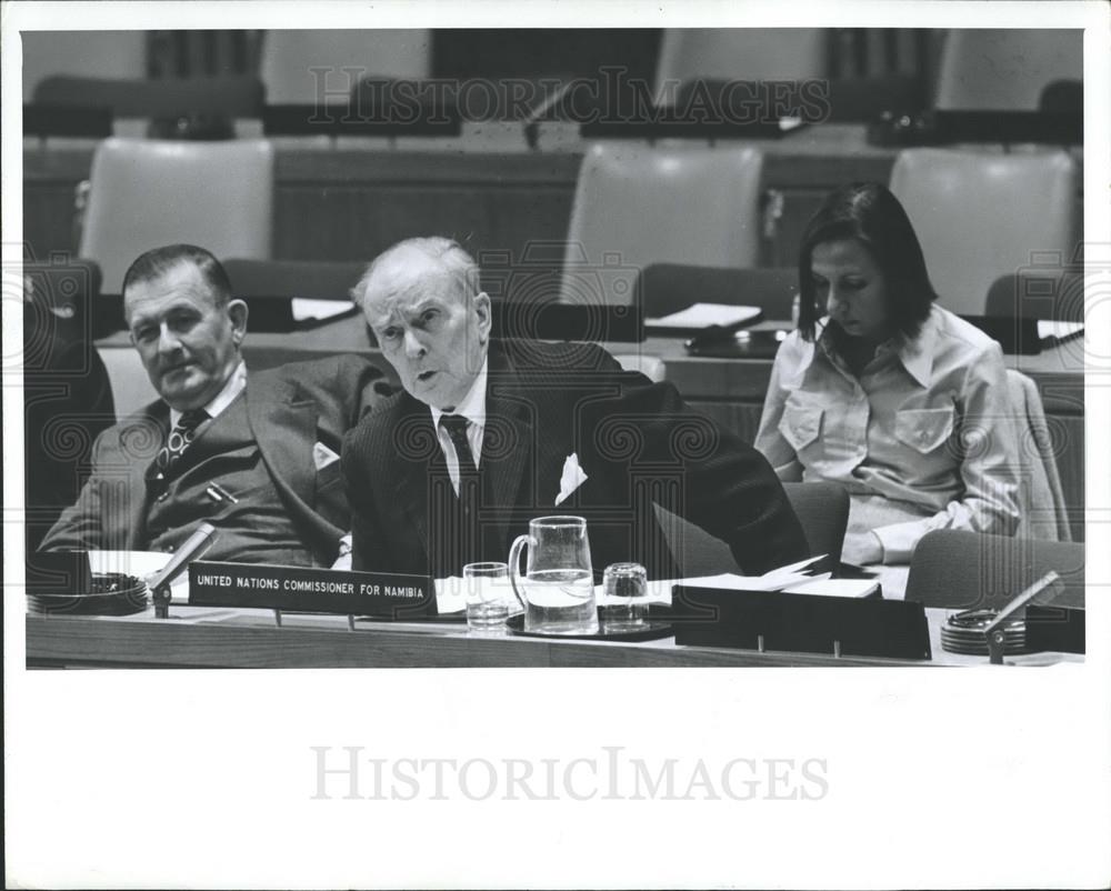
<svg viewBox="0 0 1111 891">
<path fill-rule="evenodd" d="M 918 237 L 885 187 L 827 198 L 802 237 L 799 290 L 755 444 L 781 479 L 845 485 L 843 559 L 907 563 L 933 529 L 1012 534 L 1002 351 L 934 303 Z"/>
</svg>

